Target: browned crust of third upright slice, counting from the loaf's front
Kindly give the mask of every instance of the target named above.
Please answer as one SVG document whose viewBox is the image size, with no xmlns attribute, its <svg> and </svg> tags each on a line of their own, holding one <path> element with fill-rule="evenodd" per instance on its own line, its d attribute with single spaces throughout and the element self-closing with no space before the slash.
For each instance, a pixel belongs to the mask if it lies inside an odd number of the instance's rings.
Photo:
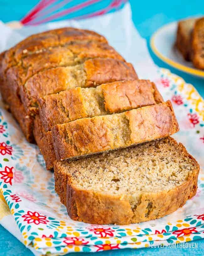
<svg viewBox="0 0 204 256">
<path fill-rule="evenodd" d="M 137 74 L 130 63 L 111 58 L 89 59 L 83 65 L 73 68 L 78 72 L 85 72 L 84 78 L 77 77 L 75 84 L 72 82 L 72 71 L 69 67 L 51 68 L 31 77 L 25 86 L 21 87 L 21 98 L 25 108 L 35 106 L 40 97 L 72 87 L 96 87 L 106 82 L 137 79 Z"/>
</svg>

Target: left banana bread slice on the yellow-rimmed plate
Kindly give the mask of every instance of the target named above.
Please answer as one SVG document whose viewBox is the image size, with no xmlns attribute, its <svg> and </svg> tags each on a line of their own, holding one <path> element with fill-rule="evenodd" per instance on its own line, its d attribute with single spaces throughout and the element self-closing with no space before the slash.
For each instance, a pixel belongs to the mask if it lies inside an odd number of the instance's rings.
<svg viewBox="0 0 204 256">
<path fill-rule="evenodd" d="M 191 34 L 195 22 L 196 18 L 181 20 L 178 22 L 176 47 L 187 61 L 191 60 Z"/>
</svg>

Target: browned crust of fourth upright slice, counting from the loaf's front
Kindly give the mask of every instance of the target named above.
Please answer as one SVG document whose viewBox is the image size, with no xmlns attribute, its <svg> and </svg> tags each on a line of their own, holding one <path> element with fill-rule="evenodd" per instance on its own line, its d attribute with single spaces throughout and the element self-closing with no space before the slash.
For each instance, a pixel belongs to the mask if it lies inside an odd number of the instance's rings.
<svg viewBox="0 0 204 256">
<path fill-rule="evenodd" d="M 6 77 L 9 78 L 9 86 L 14 83 L 13 90 L 18 92 L 24 102 L 24 84 L 34 74 L 48 68 L 57 66 L 70 66 L 82 63 L 89 58 L 114 58 L 124 61 L 120 54 L 114 48 L 105 43 L 85 42 L 74 43 L 68 46 L 59 46 L 48 49 L 46 52 L 35 53 L 23 58 L 18 65 L 9 69 L 4 68 Z"/>
</svg>

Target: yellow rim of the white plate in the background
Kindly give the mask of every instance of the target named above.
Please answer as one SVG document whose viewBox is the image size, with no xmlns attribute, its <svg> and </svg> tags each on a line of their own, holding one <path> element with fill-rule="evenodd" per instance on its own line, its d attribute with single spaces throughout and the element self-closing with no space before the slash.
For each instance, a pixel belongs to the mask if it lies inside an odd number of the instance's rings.
<svg viewBox="0 0 204 256">
<path fill-rule="evenodd" d="M 175 62 L 173 60 L 170 60 L 169 58 L 165 57 L 163 54 L 161 54 L 158 49 L 156 48 L 155 46 L 155 37 L 157 36 L 157 34 L 160 32 L 160 30 L 162 30 L 164 28 L 161 27 L 159 28 L 156 32 L 154 32 L 153 36 L 151 37 L 150 39 L 150 46 L 154 52 L 154 54 L 156 54 L 156 56 L 163 60 L 164 62 L 166 62 L 167 64 L 169 64 L 170 66 L 173 66 L 181 71 L 184 71 L 186 73 L 190 73 L 192 75 L 196 75 L 196 76 L 199 76 L 199 77 L 204 77 L 204 71 L 201 71 L 201 70 L 197 70 L 195 68 L 190 68 L 190 67 L 186 67 L 182 64 L 179 64 L 178 62 Z"/>
</svg>

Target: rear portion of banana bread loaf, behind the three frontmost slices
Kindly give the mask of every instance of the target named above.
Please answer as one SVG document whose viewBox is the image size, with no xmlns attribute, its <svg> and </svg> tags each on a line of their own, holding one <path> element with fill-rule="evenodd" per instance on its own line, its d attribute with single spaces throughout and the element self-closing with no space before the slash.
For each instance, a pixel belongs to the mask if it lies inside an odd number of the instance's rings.
<svg viewBox="0 0 204 256">
<path fill-rule="evenodd" d="M 101 60 L 91 61 L 94 58 Z M 29 142 L 33 141 L 33 118 L 38 112 L 36 99 L 39 92 L 41 97 L 70 87 L 95 87 L 104 82 L 137 79 L 132 65 L 125 63 L 105 37 L 74 28 L 32 35 L 2 53 L 0 61 L 3 100 L 20 123 L 26 138 L 30 138 Z M 75 69 L 70 67 L 72 65 L 78 67 Z M 13 102 L 18 102 L 16 109 Z M 24 112 L 26 120 L 15 113 L 17 109 L 19 113 Z"/>
</svg>

